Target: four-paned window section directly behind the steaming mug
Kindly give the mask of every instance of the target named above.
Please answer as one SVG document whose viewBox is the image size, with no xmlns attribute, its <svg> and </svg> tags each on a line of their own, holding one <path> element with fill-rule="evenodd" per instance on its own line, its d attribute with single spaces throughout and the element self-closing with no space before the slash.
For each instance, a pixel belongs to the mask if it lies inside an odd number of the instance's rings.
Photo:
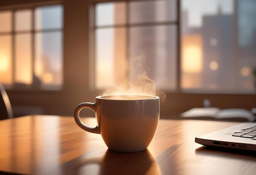
<svg viewBox="0 0 256 175">
<path fill-rule="evenodd" d="M 175 90 L 175 0 L 121 1 L 96 5 L 96 87 L 122 85 L 147 76 Z"/>
</svg>

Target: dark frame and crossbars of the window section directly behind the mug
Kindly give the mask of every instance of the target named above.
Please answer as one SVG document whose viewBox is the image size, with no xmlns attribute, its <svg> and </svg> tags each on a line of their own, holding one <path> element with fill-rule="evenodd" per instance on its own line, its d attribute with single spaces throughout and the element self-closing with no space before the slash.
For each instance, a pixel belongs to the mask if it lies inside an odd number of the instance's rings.
<svg viewBox="0 0 256 175">
<path fill-rule="evenodd" d="M 157 0 L 139 0 L 139 1 L 157 1 Z M 102 25 L 102 26 L 96 26 L 96 6 L 98 3 L 106 3 L 106 2 L 125 2 L 126 3 L 126 23 L 124 25 Z M 148 26 L 167 26 L 167 25 L 172 25 L 176 27 L 176 58 L 175 58 L 175 89 L 172 90 L 166 90 L 166 92 L 171 92 L 171 93 L 182 93 L 181 87 L 180 87 L 180 0 L 175 0 L 175 4 L 176 4 L 176 19 L 173 21 L 169 21 L 169 22 L 138 22 L 135 24 L 130 24 L 129 23 L 129 3 L 130 2 L 136 2 L 136 0 L 94 0 L 94 2 L 92 3 L 92 8 L 90 10 L 90 15 L 91 15 L 91 21 L 90 21 L 90 26 L 92 26 L 91 30 L 93 30 L 90 34 L 93 36 L 90 36 L 90 43 L 93 45 L 92 49 L 93 49 L 93 54 L 90 55 L 90 62 L 92 62 L 90 64 L 90 67 L 94 67 L 94 69 L 91 71 L 93 72 L 92 75 L 90 76 L 90 87 L 96 88 L 96 83 L 95 83 L 95 74 L 96 74 L 96 70 L 95 70 L 95 55 L 96 55 L 96 45 L 95 45 L 95 40 L 96 40 L 96 35 L 95 35 L 95 31 L 97 29 L 108 29 L 108 28 L 112 28 L 115 29 L 116 27 L 125 27 L 126 30 L 126 59 L 129 59 L 129 29 L 130 27 L 148 27 Z M 99 89 L 100 92 L 103 91 L 103 89 Z"/>
</svg>

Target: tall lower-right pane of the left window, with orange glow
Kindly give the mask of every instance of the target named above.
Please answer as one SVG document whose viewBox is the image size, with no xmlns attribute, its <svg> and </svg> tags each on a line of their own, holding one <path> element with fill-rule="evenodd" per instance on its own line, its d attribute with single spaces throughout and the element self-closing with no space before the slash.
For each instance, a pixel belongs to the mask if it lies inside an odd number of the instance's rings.
<svg viewBox="0 0 256 175">
<path fill-rule="evenodd" d="M 63 83 L 62 40 L 62 32 L 36 33 L 34 79 L 43 89 L 58 90 Z"/>
</svg>

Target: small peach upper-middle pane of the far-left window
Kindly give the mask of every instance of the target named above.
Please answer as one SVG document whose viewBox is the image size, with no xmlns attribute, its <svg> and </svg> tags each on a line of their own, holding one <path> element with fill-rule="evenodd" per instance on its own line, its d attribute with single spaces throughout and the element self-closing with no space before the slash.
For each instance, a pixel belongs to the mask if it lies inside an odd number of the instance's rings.
<svg viewBox="0 0 256 175">
<path fill-rule="evenodd" d="M 31 10 L 19 10 L 15 12 L 15 30 L 31 30 Z"/>
</svg>

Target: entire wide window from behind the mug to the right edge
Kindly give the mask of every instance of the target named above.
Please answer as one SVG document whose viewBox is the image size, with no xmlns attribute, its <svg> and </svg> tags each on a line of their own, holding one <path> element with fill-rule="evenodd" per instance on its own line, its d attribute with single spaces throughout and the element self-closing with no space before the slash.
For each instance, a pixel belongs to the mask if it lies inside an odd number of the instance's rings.
<svg viewBox="0 0 256 175">
<path fill-rule="evenodd" d="M 254 0 L 95 5 L 95 85 L 145 74 L 164 92 L 255 93 Z"/>
</svg>

